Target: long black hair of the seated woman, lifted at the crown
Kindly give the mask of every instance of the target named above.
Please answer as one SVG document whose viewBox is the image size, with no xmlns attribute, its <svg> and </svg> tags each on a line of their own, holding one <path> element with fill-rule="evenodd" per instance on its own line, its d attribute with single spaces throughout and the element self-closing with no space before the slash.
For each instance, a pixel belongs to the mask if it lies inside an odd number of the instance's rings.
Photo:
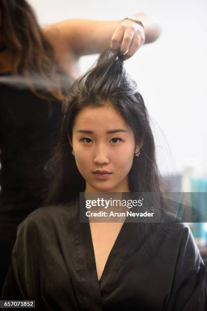
<svg viewBox="0 0 207 311">
<path fill-rule="evenodd" d="M 107 50 L 95 68 L 75 81 L 68 92 L 59 142 L 49 163 L 52 183 L 47 205 L 70 202 L 84 192 L 85 180 L 76 166 L 68 137 L 72 140 L 81 109 L 104 105 L 112 105 L 133 131 L 135 142 L 143 144 L 140 157 L 134 157 L 129 172 L 130 191 L 159 192 L 154 138 L 143 98 L 123 68 L 123 57 Z"/>
</svg>

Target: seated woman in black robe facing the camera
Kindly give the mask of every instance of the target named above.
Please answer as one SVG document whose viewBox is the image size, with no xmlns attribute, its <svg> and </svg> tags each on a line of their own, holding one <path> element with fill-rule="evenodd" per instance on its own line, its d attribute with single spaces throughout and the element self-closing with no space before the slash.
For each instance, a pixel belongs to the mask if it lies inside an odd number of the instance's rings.
<svg viewBox="0 0 207 311">
<path fill-rule="evenodd" d="M 204 264 L 186 224 L 167 212 L 168 224 L 79 220 L 79 192 L 160 196 L 147 109 L 123 58 L 101 55 L 66 104 L 48 206 L 18 227 L 2 299 L 36 300 L 38 310 L 204 311 Z"/>
</svg>

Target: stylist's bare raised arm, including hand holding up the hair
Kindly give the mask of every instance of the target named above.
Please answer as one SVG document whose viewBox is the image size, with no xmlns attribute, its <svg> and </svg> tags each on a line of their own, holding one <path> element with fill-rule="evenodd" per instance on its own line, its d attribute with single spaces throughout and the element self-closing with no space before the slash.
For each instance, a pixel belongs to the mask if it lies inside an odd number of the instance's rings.
<svg viewBox="0 0 207 311">
<path fill-rule="evenodd" d="M 145 13 L 119 21 L 71 19 L 48 25 L 44 29 L 59 64 L 75 77 L 80 74 L 79 57 L 101 53 L 110 47 L 131 57 L 144 43 L 158 39 L 161 27 Z"/>
</svg>

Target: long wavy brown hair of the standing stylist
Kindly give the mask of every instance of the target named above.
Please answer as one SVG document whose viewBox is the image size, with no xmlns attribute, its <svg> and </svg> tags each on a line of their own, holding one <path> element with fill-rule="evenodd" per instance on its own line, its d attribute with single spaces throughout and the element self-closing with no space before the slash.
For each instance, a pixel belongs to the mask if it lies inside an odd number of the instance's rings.
<svg viewBox="0 0 207 311">
<path fill-rule="evenodd" d="M 1 34 L 13 61 L 12 73 L 23 75 L 37 96 L 47 97 L 49 93 L 63 100 L 63 71 L 30 5 L 25 0 L 0 0 L 0 13 Z M 38 91 L 40 85 L 44 92 Z"/>
</svg>

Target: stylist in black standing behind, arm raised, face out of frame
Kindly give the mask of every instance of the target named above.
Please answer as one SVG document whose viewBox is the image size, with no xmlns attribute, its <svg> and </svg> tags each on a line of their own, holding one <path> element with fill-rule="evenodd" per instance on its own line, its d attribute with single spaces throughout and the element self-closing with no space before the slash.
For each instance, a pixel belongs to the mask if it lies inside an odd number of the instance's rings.
<svg viewBox="0 0 207 311">
<path fill-rule="evenodd" d="M 67 20 L 41 28 L 25 0 L 0 0 L 0 291 L 17 225 L 43 204 L 61 101 L 80 74 L 80 56 L 111 44 L 130 57 L 159 37 L 159 25 L 146 14 L 133 18 Z"/>
</svg>

